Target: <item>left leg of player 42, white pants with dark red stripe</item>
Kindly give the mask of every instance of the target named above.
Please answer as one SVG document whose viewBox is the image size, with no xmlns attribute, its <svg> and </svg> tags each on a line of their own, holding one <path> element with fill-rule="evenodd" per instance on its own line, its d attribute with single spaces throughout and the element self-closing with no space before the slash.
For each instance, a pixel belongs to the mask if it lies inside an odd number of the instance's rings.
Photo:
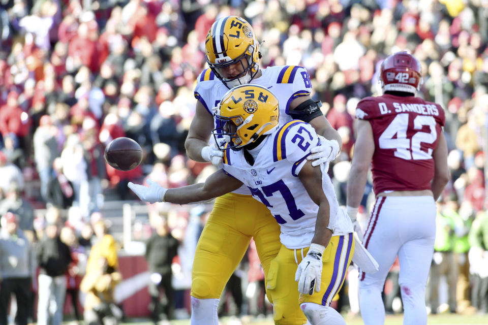
<svg viewBox="0 0 488 325">
<path fill-rule="evenodd" d="M 398 211 L 389 204 L 389 199 L 379 198 L 376 201 L 364 233 L 363 244 L 379 264 L 379 270 L 374 274 L 359 272 L 359 309 L 365 325 L 385 322 L 385 306 L 381 293 L 386 276 L 401 246 L 396 235 Z"/>
</svg>

